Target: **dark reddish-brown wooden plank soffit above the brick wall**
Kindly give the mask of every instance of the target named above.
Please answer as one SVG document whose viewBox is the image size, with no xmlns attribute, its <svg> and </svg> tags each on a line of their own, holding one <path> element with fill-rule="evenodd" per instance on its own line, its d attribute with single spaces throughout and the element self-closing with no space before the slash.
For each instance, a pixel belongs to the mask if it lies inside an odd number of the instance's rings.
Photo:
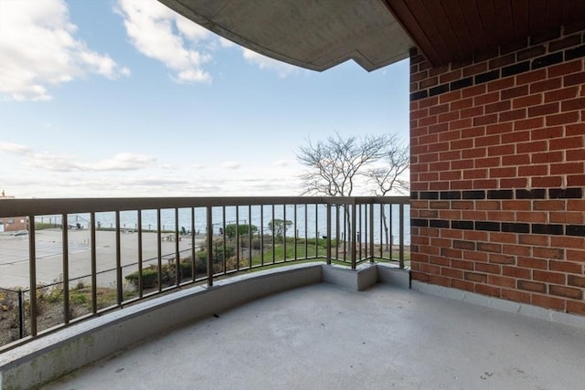
<svg viewBox="0 0 585 390">
<path fill-rule="evenodd" d="M 585 28 L 583 0 L 385 0 L 433 66 Z"/>
</svg>

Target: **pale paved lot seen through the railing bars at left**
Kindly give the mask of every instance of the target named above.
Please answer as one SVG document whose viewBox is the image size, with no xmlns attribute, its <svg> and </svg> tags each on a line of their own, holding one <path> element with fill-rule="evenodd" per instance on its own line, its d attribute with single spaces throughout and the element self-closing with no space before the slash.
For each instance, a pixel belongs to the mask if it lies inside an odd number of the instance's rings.
<svg viewBox="0 0 585 390">
<path fill-rule="evenodd" d="M 121 235 L 122 266 L 127 266 L 123 274 L 138 269 L 138 234 Z M 196 239 L 196 248 L 203 245 L 204 239 Z M 162 241 L 163 258 L 175 258 L 176 242 Z M 190 237 L 179 241 L 179 250 L 188 250 L 192 242 Z M 36 235 L 37 283 L 51 283 L 63 274 L 62 234 L 58 229 L 39 230 Z M 90 232 L 88 230 L 69 230 L 69 279 L 80 278 L 90 274 L 91 252 Z M 158 237 L 155 233 L 143 234 L 143 259 L 146 264 L 156 262 Z M 28 287 L 29 261 L 28 236 L 14 237 L 0 235 L 0 287 Z M 115 233 L 111 231 L 96 232 L 96 254 L 98 272 L 114 269 L 116 266 Z M 188 256 L 188 254 L 184 255 Z M 149 260 L 146 261 L 146 260 Z M 111 286 L 115 272 L 107 272 L 98 277 L 98 283 Z"/>
</svg>

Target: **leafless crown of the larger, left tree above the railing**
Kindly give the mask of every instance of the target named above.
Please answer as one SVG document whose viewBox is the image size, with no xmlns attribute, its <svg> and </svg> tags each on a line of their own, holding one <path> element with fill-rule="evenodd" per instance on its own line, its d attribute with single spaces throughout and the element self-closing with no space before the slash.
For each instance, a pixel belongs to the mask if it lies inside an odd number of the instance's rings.
<svg viewBox="0 0 585 390">
<path fill-rule="evenodd" d="M 391 139 L 388 135 L 343 138 L 335 132 L 326 141 L 309 141 L 297 154 L 299 162 L 307 167 L 300 176 L 303 194 L 351 196 L 356 177 L 366 174 L 364 169 L 385 155 Z"/>
</svg>

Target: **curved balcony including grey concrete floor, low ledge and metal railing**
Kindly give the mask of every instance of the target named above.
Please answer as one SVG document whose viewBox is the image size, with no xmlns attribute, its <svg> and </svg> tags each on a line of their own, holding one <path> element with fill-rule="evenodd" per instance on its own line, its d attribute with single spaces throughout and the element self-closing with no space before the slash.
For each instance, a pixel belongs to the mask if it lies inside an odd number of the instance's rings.
<svg viewBox="0 0 585 390">
<path fill-rule="evenodd" d="M 580 317 L 408 290 L 408 197 L 9 202 L 0 216 L 27 216 L 29 234 L 0 241 L 18 307 L 1 388 L 136 345 L 48 388 L 585 382 Z"/>
</svg>

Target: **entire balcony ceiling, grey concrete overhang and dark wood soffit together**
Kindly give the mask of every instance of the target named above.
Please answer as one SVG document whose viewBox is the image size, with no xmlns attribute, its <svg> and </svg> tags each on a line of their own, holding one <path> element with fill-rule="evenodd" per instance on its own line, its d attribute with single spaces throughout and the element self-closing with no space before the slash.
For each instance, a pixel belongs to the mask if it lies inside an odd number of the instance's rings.
<svg viewBox="0 0 585 390">
<path fill-rule="evenodd" d="M 159 0 L 265 56 L 324 70 L 364 69 L 419 47 L 434 67 L 585 28 L 585 0 Z"/>
</svg>

